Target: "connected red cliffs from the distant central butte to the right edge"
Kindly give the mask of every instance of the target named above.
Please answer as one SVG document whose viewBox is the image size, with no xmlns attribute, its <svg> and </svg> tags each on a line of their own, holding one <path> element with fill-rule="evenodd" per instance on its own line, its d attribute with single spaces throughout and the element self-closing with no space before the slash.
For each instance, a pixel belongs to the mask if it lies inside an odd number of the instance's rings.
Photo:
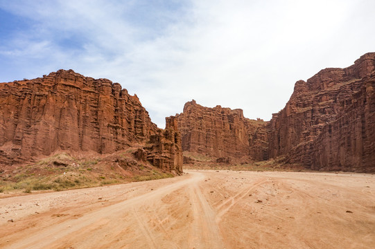
<svg viewBox="0 0 375 249">
<path fill-rule="evenodd" d="M 375 53 L 299 80 L 270 122 L 194 100 L 175 117 L 182 149 L 218 161 L 284 158 L 313 170 L 375 172 Z"/>
</svg>

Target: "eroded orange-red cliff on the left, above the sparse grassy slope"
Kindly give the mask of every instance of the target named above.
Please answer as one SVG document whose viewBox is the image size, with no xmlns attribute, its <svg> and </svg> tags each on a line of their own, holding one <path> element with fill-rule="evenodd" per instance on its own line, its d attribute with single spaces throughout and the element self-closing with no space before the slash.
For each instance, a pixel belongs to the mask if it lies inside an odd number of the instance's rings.
<svg viewBox="0 0 375 249">
<path fill-rule="evenodd" d="M 152 123 L 137 95 L 119 83 L 59 70 L 34 80 L 0 83 L 0 165 L 14 165 L 58 151 L 135 156 L 182 173 L 177 120 Z"/>
</svg>

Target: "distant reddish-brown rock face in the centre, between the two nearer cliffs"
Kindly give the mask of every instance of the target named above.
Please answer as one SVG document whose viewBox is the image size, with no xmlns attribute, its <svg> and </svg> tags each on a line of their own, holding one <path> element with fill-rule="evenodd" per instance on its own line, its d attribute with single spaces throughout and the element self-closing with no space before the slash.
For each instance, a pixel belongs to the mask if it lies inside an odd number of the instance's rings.
<svg viewBox="0 0 375 249">
<path fill-rule="evenodd" d="M 268 159 L 267 122 L 244 118 L 241 109 L 202 107 L 193 100 L 176 118 L 184 151 L 217 158 Z"/>
</svg>

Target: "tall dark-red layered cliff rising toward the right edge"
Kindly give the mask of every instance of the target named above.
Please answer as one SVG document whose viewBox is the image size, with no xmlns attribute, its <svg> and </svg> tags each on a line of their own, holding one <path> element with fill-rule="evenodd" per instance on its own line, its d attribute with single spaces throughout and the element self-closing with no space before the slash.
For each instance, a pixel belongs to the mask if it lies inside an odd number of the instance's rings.
<svg viewBox="0 0 375 249">
<path fill-rule="evenodd" d="M 270 121 L 270 157 L 317 170 L 375 172 L 375 53 L 299 81 Z"/>
</svg>

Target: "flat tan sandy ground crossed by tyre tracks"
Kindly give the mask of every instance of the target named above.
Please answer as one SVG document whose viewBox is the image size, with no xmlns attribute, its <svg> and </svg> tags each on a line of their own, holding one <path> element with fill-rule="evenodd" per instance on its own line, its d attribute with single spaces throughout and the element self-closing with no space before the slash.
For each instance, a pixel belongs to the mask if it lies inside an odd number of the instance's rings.
<svg viewBox="0 0 375 249">
<path fill-rule="evenodd" d="M 0 248 L 375 248 L 372 174 L 186 172 L 0 199 Z"/>
</svg>

